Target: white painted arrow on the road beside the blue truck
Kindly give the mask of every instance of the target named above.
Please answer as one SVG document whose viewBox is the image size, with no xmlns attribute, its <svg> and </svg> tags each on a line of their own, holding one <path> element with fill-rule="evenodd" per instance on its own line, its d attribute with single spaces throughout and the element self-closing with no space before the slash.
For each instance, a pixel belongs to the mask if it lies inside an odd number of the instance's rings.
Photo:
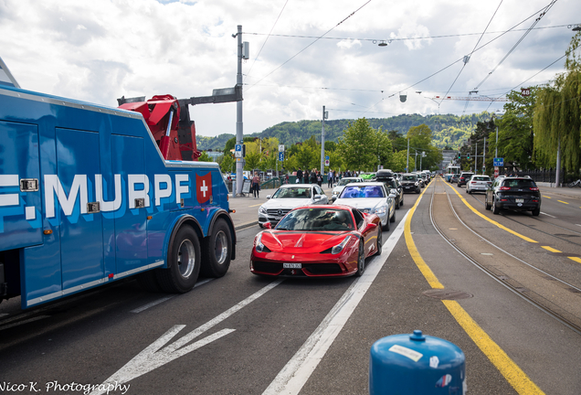
<svg viewBox="0 0 581 395">
<path fill-rule="evenodd" d="M 214 335 L 206 336 L 205 338 L 198 340 L 195 343 L 185 347 L 185 345 L 194 340 L 195 337 L 204 334 L 204 332 L 206 332 L 208 329 L 211 329 L 213 326 L 217 326 L 217 324 L 227 319 L 230 315 L 233 315 L 243 307 L 257 300 L 260 296 L 266 294 L 272 288 L 274 288 L 275 286 L 279 285 L 282 282 L 283 280 L 277 280 L 275 282 L 269 283 L 267 286 L 265 286 L 258 292 L 251 294 L 250 296 L 248 296 L 248 298 L 230 307 L 229 309 L 227 309 L 227 311 L 225 311 L 221 315 L 217 315 L 215 318 L 206 322 L 206 324 L 204 324 L 203 326 L 198 326 L 192 332 L 174 341 L 173 344 L 164 347 L 165 344 L 172 339 L 172 337 L 177 335 L 179 331 L 185 328 L 185 325 L 173 326 L 171 329 L 165 332 L 163 336 L 155 340 L 153 344 L 146 347 L 141 353 L 139 353 L 137 356 L 132 358 L 132 360 L 127 362 L 121 369 L 113 373 L 113 375 L 109 379 L 106 379 L 99 386 L 99 389 L 90 392 L 90 395 L 100 395 L 102 393 L 105 393 L 107 388 L 111 388 L 109 384 L 114 386 L 126 383 L 132 379 L 138 378 L 144 375 L 145 373 L 152 371 L 155 368 L 159 368 L 165 365 L 166 363 L 173 361 L 175 358 L 183 357 L 185 356 L 185 354 L 190 353 L 199 347 L 205 346 L 206 344 L 211 343 L 222 336 L 226 336 L 234 332 L 235 329 L 222 329 L 221 331 L 215 333 Z M 162 347 L 164 348 L 162 349 Z"/>
</svg>

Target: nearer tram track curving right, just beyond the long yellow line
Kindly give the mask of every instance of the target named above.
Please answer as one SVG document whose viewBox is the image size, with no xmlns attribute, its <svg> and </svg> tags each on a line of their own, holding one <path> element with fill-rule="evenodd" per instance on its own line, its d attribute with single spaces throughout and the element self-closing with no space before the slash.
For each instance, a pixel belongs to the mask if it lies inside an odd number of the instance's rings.
<svg viewBox="0 0 581 395">
<path fill-rule="evenodd" d="M 441 183 L 441 180 L 439 183 Z M 468 224 L 460 219 L 460 215 L 454 208 L 446 190 L 446 184 L 444 183 L 445 201 L 441 199 L 444 194 L 436 194 L 436 187 L 438 187 L 438 184 L 435 184 L 431 191 L 429 218 L 440 237 L 446 240 L 462 257 L 481 269 L 482 272 L 487 273 L 494 281 L 502 284 L 512 293 L 519 295 L 545 314 L 569 327 L 577 335 L 581 335 L 581 309 L 576 307 L 580 302 L 581 288 L 567 283 L 549 272 L 545 272 L 533 263 L 523 261 L 510 252 L 503 250 L 481 235 L 481 233 L 471 229 Z M 439 208 L 436 213 L 434 210 L 435 205 L 438 205 Z M 444 218 L 444 214 L 440 212 L 445 206 L 451 212 L 452 218 Z M 438 212 L 439 215 L 437 214 Z M 444 223 L 438 224 L 438 221 Z M 450 236 L 449 232 L 444 229 L 445 223 L 450 224 L 453 223 L 452 221 L 470 230 L 470 233 L 463 233 L 463 242 Z M 449 230 L 452 229 L 454 228 L 449 228 Z M 480 256 L 476 256 L 477 252 L 474 251 L 474 245 L 478 245 L 479 241 L 484 241 L 487 246 L 485 250 L 497 251 L 495 253 L 497 256 L 492 261 L 490 260 L 490 256 L 493 255 L 491 252 L 480 252 Z M 479 247 L 481 248 L 481 245 Z M 483 261 L 482 255 L 488 256 L 489 259 Z"/>
</svg>

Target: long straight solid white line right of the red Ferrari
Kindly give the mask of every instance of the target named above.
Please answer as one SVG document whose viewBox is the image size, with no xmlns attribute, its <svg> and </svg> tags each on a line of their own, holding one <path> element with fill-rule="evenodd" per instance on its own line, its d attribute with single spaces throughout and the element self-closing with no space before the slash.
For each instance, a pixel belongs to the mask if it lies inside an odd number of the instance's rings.
<svg viewBox="0 0 581 395">
<path fill-rule="evenodd" d="M 404 233 L 406 219 L 407 214 L 384 243 L 381 255 L 375 257 L 364 274 L 345 291 L 319 327 L 290 358 L 262 395 L 294 395 L 301 391 L 394 250 L 397 240 Z"/>
</svg>

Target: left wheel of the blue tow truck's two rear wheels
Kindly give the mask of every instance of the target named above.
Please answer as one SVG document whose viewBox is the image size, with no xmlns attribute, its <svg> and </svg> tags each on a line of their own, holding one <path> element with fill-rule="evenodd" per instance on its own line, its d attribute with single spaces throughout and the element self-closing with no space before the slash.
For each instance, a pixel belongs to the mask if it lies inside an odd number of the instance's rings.
<svg viewBox="0 0 581 395">
<path fill-rule="evenodd" d="M 168 269 L 157 272 L 157 280 L 167 293 L 184 294 L 194 288 L 201 264 L 200 241 L 195 230 L 185 226 L 177 231 L 168 253 Z"/>
</svg>

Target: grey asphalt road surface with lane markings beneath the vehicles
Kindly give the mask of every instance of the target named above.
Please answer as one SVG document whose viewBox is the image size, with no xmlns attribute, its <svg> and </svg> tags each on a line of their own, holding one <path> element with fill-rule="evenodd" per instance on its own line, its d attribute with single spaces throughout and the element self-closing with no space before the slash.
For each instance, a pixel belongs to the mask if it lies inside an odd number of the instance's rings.
<svg viewBox="0 0 581 395">
<path fill-rule="evenodd" d="M 116 383 L 109 393 L 365 394 L 373 343 L 421 329 L 462 349 L 468 393 L 578 394 L 581 336 L 460 255 L 430 217 L 431 209 L 449 239 L 496 270 L 510 269 L 534 292 L 542 294 L 543 282 L 551 281 L 511 265 L 483 239 L 581 286 L 581 263 L 569 258 L 581 253 L 576 244 L 581 242 L 576 235 L 581 200 L 549 192 L 544 191 L 545 214 L 538 218 L 512 212 L 493 216 L 483 208 L 482 195 L 469 196 L 464 188 L 441 181 L 432 182 L 421 196 L 409 236 L 446 290 L 471 295 L 453 303 L 481 332 L 459 321 L 451 301 L 425 294 L 432 283 L 412 257 L 404 231 L 418 195 L 406 195 L 396 223 L 383 234 L 384 252 L 367 260 L 361 280 L 279 281 L 248 271 L 249 251 L 260 231 L 256 212 L 268 194 L 261 191 L 259 199 L 230 200 L 237 209 L 232 217 L 238 258 L 227 275 L 201 279 L 187 294 L 147 293 L 130 279 L 18 317 L 16 300 L 0 304 L 0 393 L 74 394 L 88 386 L 94 386 L 93 393 L 106 393 L 107 383 Z M 483 216 L 537 242 L 479 217 L 460 197 Z M 462 225 L 450 206 L 481 238 Z M 566 297 L 551 303 L 576 315 L 581 294 L 555 290 Z M 499 362 L 502 355 L 506 358 Z M 12 387 L 6 387 L 8 382 Z"/>
</svg>

